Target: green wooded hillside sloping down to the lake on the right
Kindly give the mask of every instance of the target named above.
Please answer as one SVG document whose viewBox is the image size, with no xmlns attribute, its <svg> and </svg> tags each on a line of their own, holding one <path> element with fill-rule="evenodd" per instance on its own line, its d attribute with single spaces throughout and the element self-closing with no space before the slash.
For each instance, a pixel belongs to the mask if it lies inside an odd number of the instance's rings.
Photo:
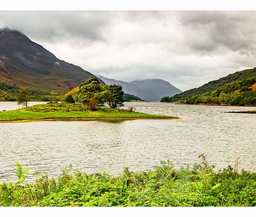
<svg viewBox="0 0 256 217">
<path fill-rule="evenodd" d="M 161 102 L 182 101 L 187 104 L 256 104 L 256 68 L 229 74 L 173 97 L 163 97 Z"/>
</svg>

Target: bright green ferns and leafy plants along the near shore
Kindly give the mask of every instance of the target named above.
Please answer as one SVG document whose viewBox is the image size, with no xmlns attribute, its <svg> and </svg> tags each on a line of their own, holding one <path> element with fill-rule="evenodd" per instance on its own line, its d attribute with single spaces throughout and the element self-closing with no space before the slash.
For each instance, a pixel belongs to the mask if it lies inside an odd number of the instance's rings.
<svg viewBox="0 0 256 217">
<path fill-rule="evenodd" d="M 199 157 L 191 169 L 176 170 L 167 160 L 148 171 L 126 167 L 117 177 L 69 166 L 56 178 L 37 172 L 33 184 L 23 184 L 28 169 L 17 161 L 18 181 L 0 184 L 0 206 L 255 206 L 256 173 L 238 173 L 238 162 L 214 172 Z"/>
</svg>

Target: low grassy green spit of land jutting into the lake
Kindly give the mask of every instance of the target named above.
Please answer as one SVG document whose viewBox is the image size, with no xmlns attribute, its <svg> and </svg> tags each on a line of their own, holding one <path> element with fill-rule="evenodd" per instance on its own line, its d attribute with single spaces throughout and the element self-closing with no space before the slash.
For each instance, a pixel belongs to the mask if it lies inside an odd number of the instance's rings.
<svg viewBox="0 0 256 217">
<path fill-rule="evenodd" d="M 0 112 L 0 122 L 23 122 L 36 120 L 104 120 L 104 119 L 175 119 L 164 115 L 129 112 L 127 110 L 100 107 L 97 111 L 87 110 L 80 104 L 39 104 L 14 111 Z"/>
</svg>

